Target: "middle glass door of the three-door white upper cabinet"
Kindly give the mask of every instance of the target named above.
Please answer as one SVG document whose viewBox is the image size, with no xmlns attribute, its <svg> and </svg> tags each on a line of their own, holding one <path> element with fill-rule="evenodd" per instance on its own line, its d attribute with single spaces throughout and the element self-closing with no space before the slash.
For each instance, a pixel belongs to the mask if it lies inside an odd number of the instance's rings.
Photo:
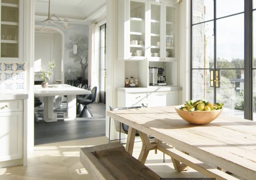
<svg viewBox="0 0 256 180">
<path fill-rule="evenodd" d="M 150 60 L 161 60 L 162 51 L 162 6 L 160 3 L 150 2 L 150 27 L 149 27 L 149 43 L 150 43 Z"/>
</svg>

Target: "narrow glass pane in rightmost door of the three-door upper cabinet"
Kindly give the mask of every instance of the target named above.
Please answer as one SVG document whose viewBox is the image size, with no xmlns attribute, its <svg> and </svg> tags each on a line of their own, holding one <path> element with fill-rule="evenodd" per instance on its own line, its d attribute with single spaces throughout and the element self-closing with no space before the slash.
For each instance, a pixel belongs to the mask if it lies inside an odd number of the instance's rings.
<svg viewBox="0 0 256 180">
<path fill-rule="evenodd" d="M 174 7 L 166 7 L 166 52 L 165 57 L 175 57 L 175 8 Z"/>
</svg>

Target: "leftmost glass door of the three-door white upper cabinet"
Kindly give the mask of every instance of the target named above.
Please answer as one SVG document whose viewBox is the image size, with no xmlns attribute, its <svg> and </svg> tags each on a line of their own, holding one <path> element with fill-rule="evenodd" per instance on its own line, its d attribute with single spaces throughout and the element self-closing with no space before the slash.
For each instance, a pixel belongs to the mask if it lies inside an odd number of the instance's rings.
<svg viewBox="0 0 256 180">
<path fill-rule="evenodd" d="M 145 13 L 146 1 L 130 1 L 130 48 L 128 59 L 145 59 Z"/>
</svg>

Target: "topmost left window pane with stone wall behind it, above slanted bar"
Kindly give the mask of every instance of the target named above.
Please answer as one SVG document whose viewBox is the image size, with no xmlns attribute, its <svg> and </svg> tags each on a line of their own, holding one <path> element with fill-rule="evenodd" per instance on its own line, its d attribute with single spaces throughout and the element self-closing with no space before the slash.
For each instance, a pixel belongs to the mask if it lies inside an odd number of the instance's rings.
<svg viewBox="0 0 256 180">
<path fill-rule="evenodd" d="M 192 1 L 192 24 L 214 19 L 213 0 Z"/>
</svg>

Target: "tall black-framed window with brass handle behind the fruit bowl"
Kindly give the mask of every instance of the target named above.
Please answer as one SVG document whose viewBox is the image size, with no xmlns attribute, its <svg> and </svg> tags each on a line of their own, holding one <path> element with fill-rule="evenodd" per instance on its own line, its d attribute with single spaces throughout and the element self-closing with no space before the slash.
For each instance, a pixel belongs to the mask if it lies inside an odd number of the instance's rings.
<svg viewBox="0 0 256 180">
<path fill-rule="evenodd" d="M 224 114 L 240 117 L 246 91 L 244 3 L 192 0 L 191 16 L 191 97 L 224 102 Z"/>
</svg>

